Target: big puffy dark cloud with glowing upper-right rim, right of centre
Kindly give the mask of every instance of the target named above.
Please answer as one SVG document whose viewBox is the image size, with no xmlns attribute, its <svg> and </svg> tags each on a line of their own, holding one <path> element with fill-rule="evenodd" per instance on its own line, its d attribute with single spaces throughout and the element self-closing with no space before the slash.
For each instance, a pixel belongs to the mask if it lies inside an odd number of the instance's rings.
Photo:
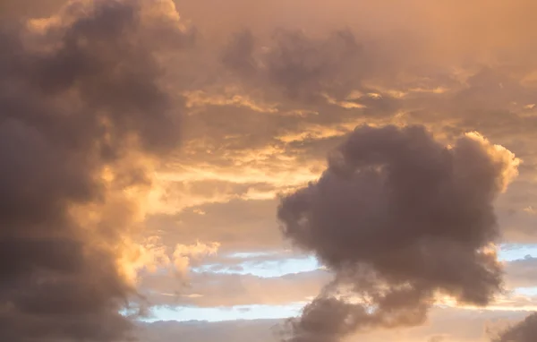
<svg viewBox="0 0 537 342">
<path fill-rule="evenodd" d="M 446 147 L 422 126 L 356 128 L 278 209 L 286 237 L 336 274 L 285 339 L 420 324 L 436 295 L 488 304 L 502 288 L 492 204 L 517 164 L 476 133 Z"/>
</svg>

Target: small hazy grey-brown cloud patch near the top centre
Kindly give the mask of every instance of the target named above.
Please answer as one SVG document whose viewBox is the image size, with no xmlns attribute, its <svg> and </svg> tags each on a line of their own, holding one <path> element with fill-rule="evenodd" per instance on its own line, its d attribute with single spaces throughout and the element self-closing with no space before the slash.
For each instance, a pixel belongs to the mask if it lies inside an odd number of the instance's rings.
<svg viewBox="0 0 537 342">
<path fill-rule="evenodd" d="M 254 37 L 250 30 L 234 34 L 222 62 L 253 86 L 269 85 L 286 97 L 311 101 L 320 99 L 323 91 L 348 87 L 351 77 L 354 83 L 360 80 L 364 58 L 350 30 L 313 38 L 301 30 L 278 29 L 268 41 Z"/>
</svg>

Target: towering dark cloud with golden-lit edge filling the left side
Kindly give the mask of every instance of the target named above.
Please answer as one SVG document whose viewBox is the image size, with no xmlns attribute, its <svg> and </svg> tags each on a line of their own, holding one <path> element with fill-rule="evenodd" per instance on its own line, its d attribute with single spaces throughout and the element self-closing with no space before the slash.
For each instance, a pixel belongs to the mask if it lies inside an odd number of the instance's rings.
<svg viewBox="0 0 537 342">
<path fill-rule="evenodd" d="M 126 193 L 178 142 L 155 54 L 191 42 L 169 4 L 74 1 L 0 31 L 1 340 L 111 341 L 129 328 Z"/>
</svg>

